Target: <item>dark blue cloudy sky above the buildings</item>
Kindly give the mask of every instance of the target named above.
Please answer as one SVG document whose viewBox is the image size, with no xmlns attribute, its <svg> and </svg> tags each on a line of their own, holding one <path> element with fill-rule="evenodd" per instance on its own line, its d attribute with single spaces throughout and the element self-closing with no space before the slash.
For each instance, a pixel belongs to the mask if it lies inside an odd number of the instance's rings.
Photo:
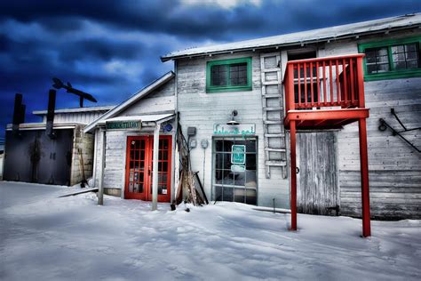
<svg viewBox="0 0 421 281">
<path fill-rule="evenodd" d="M 27 122 L 47 107 L 52 76 L 116 104 L 171 70 L 161 55 L 218 44 L 421 11 L 421 2 L 372 0 L 2 1 L 0 137 L 15 92 Z M 85 102 L 85 106 L 93 106 Z M 63 90 L 57 108 L 78 107 Z"/>
</svg>

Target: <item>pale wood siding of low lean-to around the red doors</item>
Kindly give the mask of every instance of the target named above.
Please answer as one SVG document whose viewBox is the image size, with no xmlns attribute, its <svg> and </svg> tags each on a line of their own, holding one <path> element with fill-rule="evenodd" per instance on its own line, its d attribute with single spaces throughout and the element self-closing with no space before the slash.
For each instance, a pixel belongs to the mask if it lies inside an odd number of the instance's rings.
<svg viewBox="0 0 421 281">
<path fill-rule="evenodd" d="M 132 104 L 117 116 L 135 116 L 148 113 L 174 112 L 174 79 L 164 84 L 146 97 Z M 114 116 L 116 117 L 116 116 Z M 175 128 L 175 124 L 172 124 Z M 106 167 L 104 171 L 104 189 L 108 193 L 117 194 L 113 189 L 124 189 L 126 144 L 128 136 L 153 134 L 152 127 L 142 127 L 140 132 L 130 131 L 109 131 L 107 132 L 106 146 Z M 171 133 L 169 133 L 171 134 Z M 101 156 L 102 141 L 100 132 L 97 131 L 96 138 L 96 165 L 95 165 L 95 186 L 99 186 L 99 169 L 103 157 Z M 173 190 L 171 189 L 171 192 Z M 123 192 L 121 192 L 123 195 Z"/>
</svg>

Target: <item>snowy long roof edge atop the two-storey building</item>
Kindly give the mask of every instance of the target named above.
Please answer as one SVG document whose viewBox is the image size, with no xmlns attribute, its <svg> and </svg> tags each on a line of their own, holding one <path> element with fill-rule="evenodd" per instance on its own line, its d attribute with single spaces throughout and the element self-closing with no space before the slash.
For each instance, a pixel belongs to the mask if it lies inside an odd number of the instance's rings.
<svg viewBox="0 0 421 281">
<path fill-rule="evenodd" d="M 211 53 L 245 51 L 291 44 L 307 44 L 327 40 L 338 40 L 349 36 L 361 36 L 390 29 L 421 27 L 421 13 L 412 13 L 380 20 L 362 21 L 330 28 L 319 28 L 280 36 L 270 36 L 247 41 L 209 45 L 171 52 L 161 60 L 173 60 L 182 57 L 198 56 Z"/>
</svg>

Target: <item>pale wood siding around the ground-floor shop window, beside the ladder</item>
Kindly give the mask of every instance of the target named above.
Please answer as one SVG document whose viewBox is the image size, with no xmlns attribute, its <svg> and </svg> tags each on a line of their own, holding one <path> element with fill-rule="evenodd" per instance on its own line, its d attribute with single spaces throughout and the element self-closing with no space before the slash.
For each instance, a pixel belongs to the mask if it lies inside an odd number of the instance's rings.
<svg viewBox="0 0 421 281">
<path fill-rule="evenodd" d="M 252 58 L 252 91 L 244 92 L 206 92 L 206 62 L 234 58 Z M 182 130 L 187 134 L 187 127 L 197 128 L 195 139 L 198 146 L 191 150 L 192 169 L 199 171 L 203 187 L 209 198 L 213 199 L 212 184 L 212 136 L 213 124 L 225 124 L 230 119 L 231 111 L 236 109 L 235 120 L 242 124 L 256 124 L 258 137 L 258 205 L 288 208 L 290 206 L 289 181 L 282 179 L 282 168 L 272 167 L 271 178 L 265 176 L 264 129 L 262 110 L 262 85 L 260 71 L 260 52 L 242 52 L 232 55 L 215 55 L 205 58 L 178 60 L 178 109 Z M 202 140 L 208 140 L 210 146 L 200 147 Z M 204 171 L 203 171 L 204 161 Z"/>
</svg>

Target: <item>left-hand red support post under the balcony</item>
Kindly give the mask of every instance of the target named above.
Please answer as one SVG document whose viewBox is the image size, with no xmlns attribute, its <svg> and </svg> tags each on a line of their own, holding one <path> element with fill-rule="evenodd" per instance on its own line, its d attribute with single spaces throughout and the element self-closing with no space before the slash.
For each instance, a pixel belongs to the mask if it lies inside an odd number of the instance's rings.
<svg viewBox="0 0 421 281">
<path fill-rule="evenodd" d="M 291 227 L 290 230 L 297 230 L 297 131 L 295 120 L 290 121 L 290 166 L 291 166 L 291 188 L 290 188 L 290 208 Z"/>
</svg>

